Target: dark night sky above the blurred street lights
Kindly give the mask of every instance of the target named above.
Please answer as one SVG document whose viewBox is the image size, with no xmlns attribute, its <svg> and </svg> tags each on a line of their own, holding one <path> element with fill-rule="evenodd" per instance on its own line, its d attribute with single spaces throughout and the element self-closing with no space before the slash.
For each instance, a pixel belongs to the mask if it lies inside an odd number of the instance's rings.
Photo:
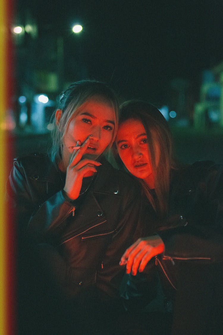
<svg viewBox="0 0 223 335">
<path fill-rule="evenodd" d="M 69 80 L 78 61 L 87 77 L 127 98 L 165 103 L 172 79 L 196 86 L 203 69 L 223 61 L 222 1 L 18 1 L 17 9 L 27 7 L 39 36 L 64 36 Z"/>
</svg>

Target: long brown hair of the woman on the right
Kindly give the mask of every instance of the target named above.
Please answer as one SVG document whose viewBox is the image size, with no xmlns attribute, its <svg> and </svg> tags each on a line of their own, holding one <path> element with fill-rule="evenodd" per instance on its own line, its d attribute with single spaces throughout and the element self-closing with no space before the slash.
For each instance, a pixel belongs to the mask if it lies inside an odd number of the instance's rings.
<svg viewBox="0 0 223 335">
<path fill-rule="evenodd" d="M 157 214 L 163 217 L 168 210 L 170 171 L 172 168 L 177 168 L 176 161 L 173 158 L 171 131 L 161 112 L 155 106 L 141 100 L 129 100 L 121 105 L 119 124 L 128 119 L 141 121 L 145 128 L 154 176 L 156 200 L 143 180 L 138 179 L 138 181 Z M 156 166 L 157 145 L 160 157 Z"/>
</svg>

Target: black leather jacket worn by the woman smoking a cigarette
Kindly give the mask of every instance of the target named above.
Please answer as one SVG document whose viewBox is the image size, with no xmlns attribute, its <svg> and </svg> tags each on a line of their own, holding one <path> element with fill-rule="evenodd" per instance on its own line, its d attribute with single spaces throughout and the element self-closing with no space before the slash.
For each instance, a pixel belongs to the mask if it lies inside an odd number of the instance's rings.
<svg viewBox="0 0 223 335">
<path fill-rule="evenodd" d="M 137 184 L 104 158 L 101 163 L 74 202 L 62 191 L 59 171 L 42 154 L 15 159 L 6 185 L 16 208 L 18 238 L 24 241 L 26 236 L 30 244 L 47 243 L 59 251 L 68 264 L 71 295 L 93 285 L 116 296 L 124 270 L 120 258 L 141 235 Z"/>
</svg>

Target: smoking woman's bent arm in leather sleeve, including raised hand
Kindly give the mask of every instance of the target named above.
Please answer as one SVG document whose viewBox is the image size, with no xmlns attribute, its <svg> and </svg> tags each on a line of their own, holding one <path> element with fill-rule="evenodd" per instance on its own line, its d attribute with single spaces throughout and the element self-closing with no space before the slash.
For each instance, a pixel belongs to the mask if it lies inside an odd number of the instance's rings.
<svg viewBox="0 0 223 335">
<path fill-rule="evenodd" d="M 57 240 L 66 224 L 66 218 L 75 209 L 74 200 L 79 197 L 83 177 L 86 173 L 96 172 L 95 165 L 100 165 L 97 161 L 82 159 L 87 147 L 86 140 L 79 150 L 73 151 L 67 168 L 64 190 L 60 190 L 59 185 L 55 188 L 55 194 L 51 193 L 52 196 L 48 199 L 46 199 L 48 177 L 43 175 L 42 180 L 34 180 L 31 175 L 33 170 L 41 173 L 41 170 L 45 169 L 46 162 L 39 163 L 38 156 L 31 164 L 26 161 L 26 167 L 20 160 L 14 161 L 6 194 L 10 207 L 14 207 L 16 211 L 16 221 L 21 234 L 26 233 L 28 226 L 27 231 L 31 239 L 38 242 Z M 36 163 L 38 168 L 35 167 Z M 53 178 L 56 184 L 58 179 L 60 180 L 58 173 L 54 173 Z"/>
</svg>

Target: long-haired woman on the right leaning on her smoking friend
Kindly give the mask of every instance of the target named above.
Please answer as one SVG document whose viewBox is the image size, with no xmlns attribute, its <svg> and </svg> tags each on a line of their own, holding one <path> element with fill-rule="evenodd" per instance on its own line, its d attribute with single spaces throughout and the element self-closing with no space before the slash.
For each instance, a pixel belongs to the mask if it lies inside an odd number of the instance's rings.
<svg viewBox="0 0 223 335">
<path fill-rule="evenodd" d="M 115 150 L 150 205 L 147 235 L 121 258 L 120 265 L 130 274 L 123 296 L 130 296 L 131 275 L 144 271 L 155 256 L 166 307 L 174 303 L 172 334 L 221 334 L 222 166 L 211 161 L 178 163 L 168 123 L 158 109 L 141 101 L 122 105 Z M 154 222 L 157 233 L 150 236 Z"/>
</svg>

